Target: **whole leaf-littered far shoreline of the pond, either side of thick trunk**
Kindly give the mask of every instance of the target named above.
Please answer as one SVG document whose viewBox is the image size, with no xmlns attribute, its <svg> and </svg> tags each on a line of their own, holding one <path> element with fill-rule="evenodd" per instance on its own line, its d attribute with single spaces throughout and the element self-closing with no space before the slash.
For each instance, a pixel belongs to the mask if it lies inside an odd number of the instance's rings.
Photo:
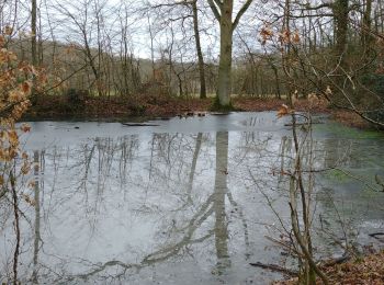
<svg viewBox="0 0 384 285">
<path fill-rule="evenodd" d="M 286 100 L 238 96 L 233 99 L 237 112 L 278 111 Z M 176 99 L 170 96 L 92 98 L 84 102 L 70 103 L 64 96 L 44 96 L 30 107 L 22 121 L 99 121 L 135 122 L 169 119 L 174 116 L 204 115 L 210 112 L 213 99 Z M 326 102 L 312 103 L 298 100 L 295 109 L 314 114 L 330 114 L 337 122 L 362 129 L 373 128 L 359 115 L 330 109 Z"/>
</svg>

